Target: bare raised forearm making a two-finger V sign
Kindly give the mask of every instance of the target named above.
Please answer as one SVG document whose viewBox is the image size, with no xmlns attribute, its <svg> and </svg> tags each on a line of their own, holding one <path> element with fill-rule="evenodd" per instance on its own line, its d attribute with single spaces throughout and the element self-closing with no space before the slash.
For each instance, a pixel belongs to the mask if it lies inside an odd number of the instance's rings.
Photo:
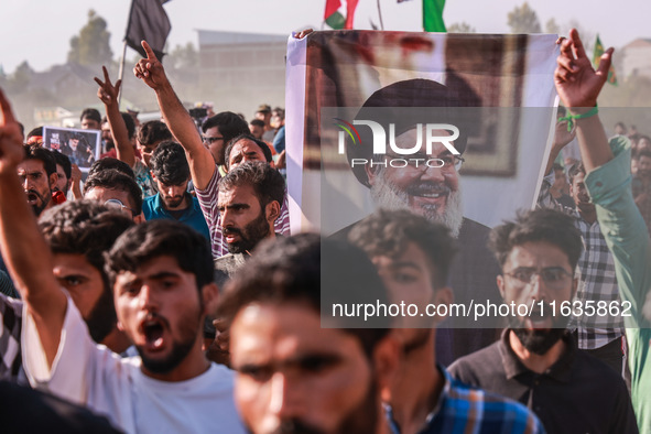
<svg viewBox="0 0 651 434">
<path fill-rule="evenodd" d="M 122 80 L 117 80 L 112 85 L 106 66 L 102 66 L 101 70 L 104 72 L 104 82 L 95 77 L 95 82 L 99 85 L 97 97 L 104 102 L 106 117 L 116 142 L 118 160 L 129 164 L 129 167 L 133 167 L 133 164 L 135 164 L 135 152 L 133 152 L 133 144 L 129 138 L 124 119 L 120 115 L 120 105 L 118 104 L 118 95 L 120 94 Z"/>
</svg>

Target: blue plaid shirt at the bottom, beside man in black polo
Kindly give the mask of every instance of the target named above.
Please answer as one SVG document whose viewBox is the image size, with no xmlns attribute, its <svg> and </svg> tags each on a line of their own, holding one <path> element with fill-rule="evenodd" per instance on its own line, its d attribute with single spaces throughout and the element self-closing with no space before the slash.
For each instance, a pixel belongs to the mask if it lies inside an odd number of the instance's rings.
<svg viewBox="0 0 651 434">
<path fill-rule="evenodd" d="M 445 386 L 436 408 L 427 415 L 420 434 L 516 434 L 544 433 L 538 417 L 524 405 L 495 393 L 475 389 L 455 380 L 443 368 Z M 400 427 L 393 421 L 390 406 L 387 417 L 393 434 Z"/>
</svg>

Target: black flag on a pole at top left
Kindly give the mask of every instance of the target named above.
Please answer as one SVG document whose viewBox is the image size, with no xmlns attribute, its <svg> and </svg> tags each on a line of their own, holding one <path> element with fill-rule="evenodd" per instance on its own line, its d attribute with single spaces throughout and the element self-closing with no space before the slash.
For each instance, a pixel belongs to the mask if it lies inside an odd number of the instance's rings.
<svg viewBox="0 0 651 434">
<path fill-rule="evenodd" d="M 163 58 L 163 48 L 172 25 L 163 4 L 169 0 L 132 0 L 129 23 L 127 24 L 127 45 L 147 57 L 140 45 L 147 41 L 159 59 Z"/>
</svg>

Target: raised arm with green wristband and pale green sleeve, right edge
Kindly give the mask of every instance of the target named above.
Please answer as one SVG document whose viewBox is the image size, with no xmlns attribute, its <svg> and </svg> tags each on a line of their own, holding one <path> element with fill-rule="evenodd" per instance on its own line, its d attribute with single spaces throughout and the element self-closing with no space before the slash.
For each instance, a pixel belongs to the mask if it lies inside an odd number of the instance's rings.
<svg viewBox="0 0 651 434">
<path fill-rule="evenodd" d="M 641 433 L 651 433 L 651 241 L 630 189 L 630 144 L 615 137 L 608 142 L 596 110 L 608 77 L 612 48 L 604 53 L 597 70 L 586 55 L 576 30 L 560 40 L 556 90 L 574 116 L 586 169 L 585 185 L 597 209 L 597 220 L 614 258 L 625 317 L 631 372 L 631 400 Z"/>
</svg>

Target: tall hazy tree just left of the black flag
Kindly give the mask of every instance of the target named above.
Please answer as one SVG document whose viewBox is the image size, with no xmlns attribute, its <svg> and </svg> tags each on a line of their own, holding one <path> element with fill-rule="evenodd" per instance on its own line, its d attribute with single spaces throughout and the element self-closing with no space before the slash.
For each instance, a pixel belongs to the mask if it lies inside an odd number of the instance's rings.
<svg viewBox="0 0 651 434">
<path fill-rule="evenodd" d="M 111 62 L 113 53 L 109 45 L 110 33 L 107 31 L 106 20 L 91 9 L 88 11 L 88 22 L 79 31 L 79 35 L 70 39 L 68 62 L 82 65 L 98 65 Z"/>
</svg>

